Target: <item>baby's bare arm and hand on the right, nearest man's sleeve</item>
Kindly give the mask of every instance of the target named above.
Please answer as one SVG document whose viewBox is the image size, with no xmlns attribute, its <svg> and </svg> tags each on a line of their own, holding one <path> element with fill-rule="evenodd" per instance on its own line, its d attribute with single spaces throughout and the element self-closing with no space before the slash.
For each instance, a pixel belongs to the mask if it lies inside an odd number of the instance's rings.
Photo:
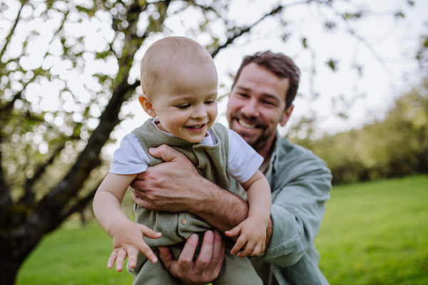
<svg viewBox="0 0 428 285">
<path fill-rule="evenodd" d="M 270 186 L 260 170 L 257 170 L 250 180 L 241 185 L 247 191 L 248 218 L 225 234 L 228 237 L 240 234 L 231 251 L 232 254 L 237 253 L 246 244 L 243 252 L 239 252 L 237 256 L 255 257 L 265 252 L 266 228 L 270 221 L 272 205 Z"/>
</svg>

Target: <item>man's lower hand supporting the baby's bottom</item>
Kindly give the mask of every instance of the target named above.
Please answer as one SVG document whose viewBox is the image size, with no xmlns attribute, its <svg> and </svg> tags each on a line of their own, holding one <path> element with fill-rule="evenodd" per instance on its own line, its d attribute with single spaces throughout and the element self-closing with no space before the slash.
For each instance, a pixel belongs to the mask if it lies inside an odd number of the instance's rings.
<svg viewBox="0 0 428 285">
<path fill-rule="evenodd" d="M 223 266 L 225 239 L 220 232 L 205 232 L 200 253 L 193 261 L 197 245 L 198 235 L 192 234 L 178 260 L 174 259 L 168 247 L 159 247 L 163 266 L 183 284 L 208 284 L 218 278 Z"/>
</svg>

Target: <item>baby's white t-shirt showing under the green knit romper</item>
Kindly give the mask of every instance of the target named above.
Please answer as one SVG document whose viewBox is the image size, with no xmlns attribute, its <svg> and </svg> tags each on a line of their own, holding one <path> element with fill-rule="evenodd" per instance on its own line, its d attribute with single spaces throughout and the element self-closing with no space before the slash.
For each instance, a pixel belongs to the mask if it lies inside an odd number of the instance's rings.
<svg viewBox="0 0 428 285">
<path fill-rule="evenodd" d="M 152 119 L 151 123 L 156 126 L 157 120 L 157 118 Z M 156 128 L 158 127 L 156 126 Z M 165 133 L 162 130 L 159 131 Z M 170 133 L 165 134 L 173 137 Z M 240 183 L 247 182 L 263 163 L 263 157 L 233 130 L 228 130 L 228 135 L 229 155 L 226 173 Z M 207 135 L 200 143 L 215 145 L 213 130 L 208 130 Z M 121 146 L 113 153 L 110 172 L 123 175 L 136 174 L 146 171 L 148 165 L 150 165 L 150 158 L 146 155 L 138 138 L 130 133 L 123 138 Z"/>
</svg>

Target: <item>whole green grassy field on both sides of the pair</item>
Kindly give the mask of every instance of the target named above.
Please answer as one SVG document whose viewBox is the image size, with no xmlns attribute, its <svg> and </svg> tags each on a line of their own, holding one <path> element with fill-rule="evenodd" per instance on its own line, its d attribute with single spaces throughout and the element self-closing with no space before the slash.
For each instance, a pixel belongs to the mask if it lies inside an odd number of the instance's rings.
<svg viewBox="0 0 428 285">
<path fill-rule="evenodd" d="M 330 284 L 428 284 L 428 177 L 335 187 L 315 243 Z M 18 284 L 132 284 L 106 268 L 110 253 L 96 224 L 65 224 L 26 260 Z"/>
</svg>

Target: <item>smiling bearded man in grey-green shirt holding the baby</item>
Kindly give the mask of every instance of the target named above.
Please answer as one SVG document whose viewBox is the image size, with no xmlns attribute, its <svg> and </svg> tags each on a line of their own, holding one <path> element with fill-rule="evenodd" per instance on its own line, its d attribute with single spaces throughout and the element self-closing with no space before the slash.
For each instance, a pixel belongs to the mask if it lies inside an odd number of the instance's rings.
<svg viewBox="0 0 428 285">
<path fill-rule="evenodd" d="M 299 69 L 282 53 L 247 56 L 228 103 L 230 128 L 263 156 L 260 170 L 272 190 L 266 250 L 252 259 L 263 283 L 269 285 L 328 284 L 318 269 L 319 254 L 313 242 L 325 202 L 330 199 L 330 170 L 309 150 L 277 135 L 277 125 L 285 125 L 294 108 L 299 76 Z M 162 157 L 165 163 L 148 167 L 131 185 L 134 200 L 141 207 L 192 212 L 219 232 L 232 229 L 247 217 L 248 203 L 232 193 L 245 192 L 234 181 L 230 192 L 217 187 L 198 175 L 184 155 L 166 145 L 151 150 L 151 155 Z M 160 248 L 165 268 L 184 284 L 213 281 L 224 254 L 224 241 L 217 230 L 205 233 L 195 261 L 195 235 L 188 239 L 178 260 L 168 248 Z"/>
</svg>

